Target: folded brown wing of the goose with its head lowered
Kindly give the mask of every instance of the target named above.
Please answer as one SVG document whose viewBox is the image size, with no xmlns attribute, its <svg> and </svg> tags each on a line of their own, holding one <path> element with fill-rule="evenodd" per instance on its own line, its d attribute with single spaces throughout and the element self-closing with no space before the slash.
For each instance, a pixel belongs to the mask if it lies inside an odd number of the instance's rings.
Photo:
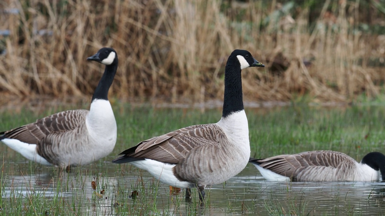
<svg viewBox="0 0 385 216">
<path fill-rule="evenodd" d="M 307 151 L 295 155 L 278 155 L 254 160 L 259 166 L 292 180 L 313 180 L 316 176 L 331 173 L 354 164 L 353 158 L 336 151 Z M 323 176 L 325 177 L 325 176 Z M 310 179 L 313 178 L 313 179 Z"/>
</svg>

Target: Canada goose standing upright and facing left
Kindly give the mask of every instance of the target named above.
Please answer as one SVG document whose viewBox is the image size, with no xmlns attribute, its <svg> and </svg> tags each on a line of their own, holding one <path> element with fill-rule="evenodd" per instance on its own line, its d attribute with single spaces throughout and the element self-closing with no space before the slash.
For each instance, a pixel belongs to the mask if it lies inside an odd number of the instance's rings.
<svg viewBox="0 0 385 216">
<path fill-rule="evenodd" d="M 25 158 L 43 165 L 77 166 L 107 156 L 116 143 L 116 122 L 108 90 L 118 67 L 114 49 L 87 58 L 105 66 L 90 110 L 67 110 L 0 133 L 0 140 Z"/>
</svg>

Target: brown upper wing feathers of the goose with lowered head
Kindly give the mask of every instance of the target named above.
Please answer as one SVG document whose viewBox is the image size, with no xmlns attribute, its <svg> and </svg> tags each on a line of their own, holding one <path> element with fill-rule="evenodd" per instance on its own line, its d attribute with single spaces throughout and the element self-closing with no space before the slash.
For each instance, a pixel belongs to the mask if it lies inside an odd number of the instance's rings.
<svg viewBox="0 0 385 216">
<path fill-rule="evenodd" d="M 338 168 L 342 162 L 351 161 L 352 158 L 336 151 L 307 151 L 295 155 L 278 155 L 271 158 L 257 160 L 260 166 L 293 180 L 302 171 L 310 166 Z"/>
</svg>

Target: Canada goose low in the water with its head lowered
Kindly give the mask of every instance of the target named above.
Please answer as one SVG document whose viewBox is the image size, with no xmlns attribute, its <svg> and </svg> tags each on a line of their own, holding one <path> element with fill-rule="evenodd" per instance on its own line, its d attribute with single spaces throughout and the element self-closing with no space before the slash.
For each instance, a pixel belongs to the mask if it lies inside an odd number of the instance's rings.
<svg viewBox="0 0 385 216">
<path fill-rule="evenodd" d="M 385 181 L 385 155 L 371 152 L 361 162 L 338 151 L 306 151 L 250 163 L 269 181 Z"/>
</svg>

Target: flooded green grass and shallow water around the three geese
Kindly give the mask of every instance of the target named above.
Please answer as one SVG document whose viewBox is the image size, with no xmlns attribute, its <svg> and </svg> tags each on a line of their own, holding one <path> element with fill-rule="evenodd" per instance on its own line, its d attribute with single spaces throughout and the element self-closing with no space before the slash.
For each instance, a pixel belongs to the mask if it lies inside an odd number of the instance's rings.
<svg viewBox="0 0 385 216">
<path fill-rule="evenodd" d="M 115 104 L 114 108 L 118 139 L 113 153 L 93 164 L 75 168 L 72 173 L 28 162 L 0 145 L 1 161 L 4 161 L 0 162 L 0 215 L 360 215 L 365 214 L 362 209 L 373 213 L 385 205 L 381 202 L 385 185 L 381 183 L 271 183 L 255 179 L 258 171 L 250 165 L 237 178 L 207 188 L 206 206 L 199 207 L 196 190 L 192 191 L 192 203 L 186 204 L 184 191 L 170 194 L 167 185 L 146 171 L 110 161 L 141 140 L 184 126 L 217 122 L 221 108 L 205 112 L 132 108 L 123 104 Z M 20 112 L 3 112 L 0 131 L 66 109 L 68 107 L 30 111 L 26 108 Z M 289 106 L 246 109 L 246 114 L 251 156 L 256 158 L 335 150 L 359 161 L 370 151 L 385 153 L 385 108 L 382 106 Z M 94 179 L 97 179 L 96 191 L 91 188 Z M 105 194 L 99 198 L 97 193 L 102 190 Z M 136 199 L 129 197 L 132 191 L 138 192 Z"/>
</svg>

